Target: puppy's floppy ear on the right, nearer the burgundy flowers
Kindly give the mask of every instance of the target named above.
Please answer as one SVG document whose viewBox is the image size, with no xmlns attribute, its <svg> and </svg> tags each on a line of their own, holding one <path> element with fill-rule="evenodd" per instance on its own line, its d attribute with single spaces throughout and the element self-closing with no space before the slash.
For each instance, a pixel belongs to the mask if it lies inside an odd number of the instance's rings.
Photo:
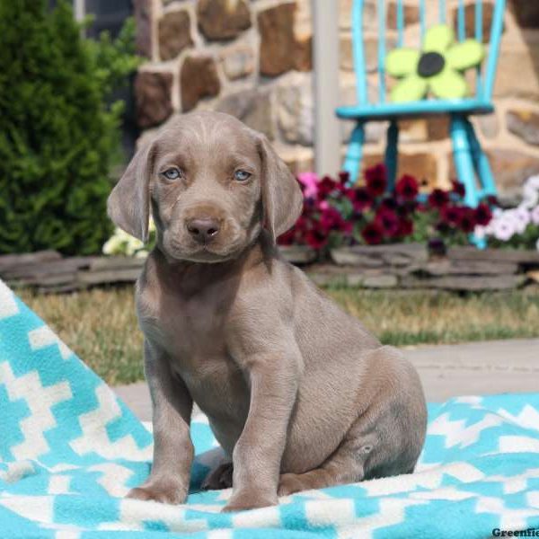
<svg viewBox="0 0 539 539">
<path fill-rule="evenodd" d="M 259 141 L 264 227 L 275 242 L 301 215 L 303 194 L 296 178 L 271 147 L 268 138 L 262 135 Z"/>
</svg>

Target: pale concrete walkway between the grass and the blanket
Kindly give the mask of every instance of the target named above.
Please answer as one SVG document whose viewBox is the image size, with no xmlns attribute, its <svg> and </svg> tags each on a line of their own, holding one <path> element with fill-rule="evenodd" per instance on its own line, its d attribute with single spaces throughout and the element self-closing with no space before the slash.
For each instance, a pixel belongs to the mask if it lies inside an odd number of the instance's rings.
<svg viewBox="0 0 539 539">
<path fill-rule="evenodd" d="M 457 395 L 539 392 L 539 339 L 491 340 L 403 349 L 420 373 L 427 400 Z M 151 420 L 146 383 L 116 393 L 141 420 Z"/>
</svg>

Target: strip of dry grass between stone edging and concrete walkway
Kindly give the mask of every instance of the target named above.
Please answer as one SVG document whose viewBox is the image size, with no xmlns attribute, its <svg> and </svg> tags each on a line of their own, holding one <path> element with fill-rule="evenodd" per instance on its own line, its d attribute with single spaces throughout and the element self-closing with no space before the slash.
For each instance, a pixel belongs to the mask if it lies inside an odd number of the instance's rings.
<svg viewBox="0 0 539 539">
<path fill-rule="evenodd" d="M 334 288 L 327 292 L 387 344 L 539 337 L 539 290 L 457 295 Z M 22 299 L 109 384 L 143 377 L 132 287 Z"/>
</svg>

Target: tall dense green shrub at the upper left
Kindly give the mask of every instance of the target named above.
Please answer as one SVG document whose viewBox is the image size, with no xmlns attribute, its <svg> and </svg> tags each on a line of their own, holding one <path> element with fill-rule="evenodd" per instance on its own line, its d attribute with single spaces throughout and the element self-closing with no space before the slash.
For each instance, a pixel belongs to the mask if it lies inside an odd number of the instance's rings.
<svg viewBox="0 0 539 539">
<path fill-rule="evenodd" d="M 65 0 L 0 2 L 0 252 L 100 252 L 133 23 L 84 40 Z"/>
</svg>

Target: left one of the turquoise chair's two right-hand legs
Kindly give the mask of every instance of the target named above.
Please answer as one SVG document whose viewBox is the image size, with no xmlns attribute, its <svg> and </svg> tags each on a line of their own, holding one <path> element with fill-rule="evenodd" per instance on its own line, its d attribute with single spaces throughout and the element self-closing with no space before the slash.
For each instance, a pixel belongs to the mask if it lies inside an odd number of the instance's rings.
<svg viewBox="0 0 539 539">
<path fill-rule="evenodd" d="M 457 176 L 466 188 L 464 202 L 467 206 L 475 208 L 479 203 L 479 197 L 475 181 L 475 171 L 473 169 L 472 148 L 468 139 L 464 117 L 459 115 L 451 116 L 451 140 L 453 142 L 453 155 Z M 486 242 L 473 234 L 470 236 L 470 241 L 479 249 L 486 247 Z"/>
</svg>

